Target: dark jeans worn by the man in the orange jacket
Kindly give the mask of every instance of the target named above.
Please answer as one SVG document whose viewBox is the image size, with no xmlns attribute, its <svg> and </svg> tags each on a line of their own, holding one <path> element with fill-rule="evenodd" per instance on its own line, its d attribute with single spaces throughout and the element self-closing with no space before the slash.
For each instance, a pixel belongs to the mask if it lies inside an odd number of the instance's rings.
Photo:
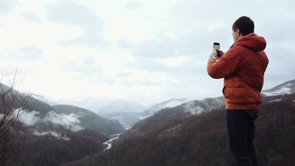
<svg viewBox="0 0 295 166">
<path fill-rule="evenodd" d="M 256 109 L 226 109 L 229 150 L 238 166 L 258 165 L 253 143 L 257 117 Z"/>
</svg>

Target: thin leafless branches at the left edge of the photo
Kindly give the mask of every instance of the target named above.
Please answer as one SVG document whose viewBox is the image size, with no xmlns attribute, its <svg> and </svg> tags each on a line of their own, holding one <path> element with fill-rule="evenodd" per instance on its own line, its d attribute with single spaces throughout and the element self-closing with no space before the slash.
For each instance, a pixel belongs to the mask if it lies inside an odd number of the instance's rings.
<svg viewBox="0 0 295 166">
<path fill-rule="evenodd" d="M 5 161 L 24 148 L 12 128 L 19 117 L 28 109 L 26 105 L 31 96 L 31 94 L 19 94 L 18 92 L 23 79 L 17 89 L 14 89 L 16 84 L 19 83 L 19 80 L 16 80 L 16 73 L 19 70 L 17 65 L 12 79 L 9 79 L 9 86 L 6 87 L 6 85 L 0 83 L 0 165 L 19 165 L 7 164 Z M 3 74 L 1 69 L 0 73 L 0 81 L 3 76 L 8 75 Z"/>
</svg>

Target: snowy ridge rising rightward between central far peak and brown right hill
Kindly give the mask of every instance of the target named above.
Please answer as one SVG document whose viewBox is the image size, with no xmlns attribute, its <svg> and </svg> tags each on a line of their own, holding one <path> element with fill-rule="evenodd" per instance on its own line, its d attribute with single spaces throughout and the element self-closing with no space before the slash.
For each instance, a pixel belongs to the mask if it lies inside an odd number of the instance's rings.
<svg viewBox="0 0 295 166">
<path fill-rule="evenodd" d="M 161 103 L 155 104 L 151 106 L 150 108 L 146 109 L 144 112 L 140 114 L 140 118 L 143 119 L 145 117 L 153 115 L 155 112 L 159 111 L 162 108 L 173 107 L 187 101 L 188 101 L 187 98 L 170 98 L 167 101 L 163 101 Z"/>
</svg>

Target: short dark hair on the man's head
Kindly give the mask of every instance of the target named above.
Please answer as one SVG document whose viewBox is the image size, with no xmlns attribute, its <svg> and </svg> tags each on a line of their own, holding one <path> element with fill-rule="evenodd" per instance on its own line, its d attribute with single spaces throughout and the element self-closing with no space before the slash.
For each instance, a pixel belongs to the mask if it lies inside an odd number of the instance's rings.
<svg viewBox="0 0 295 166">
<path fill-rule="evenodd" d="M 239 29 L 242 35 L 247 35 L 254 32 L 254 22 L 247 16 L 241 16 L 232 24 L 232 30 L 235 32 Z"/>
</svg>

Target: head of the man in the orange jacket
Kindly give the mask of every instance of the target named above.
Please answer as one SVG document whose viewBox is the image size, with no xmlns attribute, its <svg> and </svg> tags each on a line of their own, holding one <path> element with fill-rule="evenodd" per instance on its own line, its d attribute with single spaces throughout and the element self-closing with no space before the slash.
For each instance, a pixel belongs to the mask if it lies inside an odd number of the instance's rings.
<svg viewBox="0 0 295 166">
<path fill-rule="evenodd" d="M 241 16 L 232 24 L 232 36 L 236 41 L 240 37 L 254 32 L 254 22 L 247 16 Z"/>
</svg>

